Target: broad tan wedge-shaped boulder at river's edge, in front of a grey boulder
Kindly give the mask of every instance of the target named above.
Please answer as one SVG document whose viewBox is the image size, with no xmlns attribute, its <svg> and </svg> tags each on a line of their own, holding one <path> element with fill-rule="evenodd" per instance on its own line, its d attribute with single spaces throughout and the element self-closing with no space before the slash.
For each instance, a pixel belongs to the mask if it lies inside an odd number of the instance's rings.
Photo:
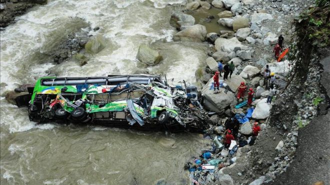
<svg viewBox="0 0 330 185">
<path fill-rule="evenodd" d="M 205 26 L 196 24 L 188 26 L 184 30 L 177 32 L 173 39 L 181 41 L 204 41 L 207 31 Z"/>
</svg>

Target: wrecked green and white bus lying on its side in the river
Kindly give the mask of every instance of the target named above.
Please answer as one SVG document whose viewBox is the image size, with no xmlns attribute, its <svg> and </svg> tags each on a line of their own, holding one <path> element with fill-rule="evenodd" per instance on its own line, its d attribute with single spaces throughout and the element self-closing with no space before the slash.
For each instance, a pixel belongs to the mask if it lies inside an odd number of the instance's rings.
<svg viewBox="0 0 330 185">
<path fill-rule="evenodd" d="M 170 87 L 159 75 L 42 77 L 16 104 L 27 105 L 29 120 L 37 123 L 170 132 L 212 128 L 197 100 L 197 88 Z"/>
</svg>

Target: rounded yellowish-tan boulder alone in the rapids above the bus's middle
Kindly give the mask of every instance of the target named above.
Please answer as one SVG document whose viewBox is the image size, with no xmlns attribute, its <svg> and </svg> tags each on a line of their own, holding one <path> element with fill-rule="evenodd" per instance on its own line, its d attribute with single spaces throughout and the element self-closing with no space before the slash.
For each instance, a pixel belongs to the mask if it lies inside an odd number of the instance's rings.
<svg viewBox="0 0 330 185">
<path fill-rule="evenodd" d="M 151 49 L 145 44 L 141 44 L 138 47 L 136 58 L 147 66 L 154 66 L 162 60 L 158 51 Z"/>
</svg>

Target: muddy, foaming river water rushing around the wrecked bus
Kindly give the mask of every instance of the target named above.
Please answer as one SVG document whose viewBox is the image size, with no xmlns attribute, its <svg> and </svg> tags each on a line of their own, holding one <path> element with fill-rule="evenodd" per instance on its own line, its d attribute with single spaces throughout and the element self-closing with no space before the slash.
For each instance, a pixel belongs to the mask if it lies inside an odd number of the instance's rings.
<svg viewBox="0 0 330 185">
<path fill-rule="evenodd" d="M 139 44 L 162 49 L 164 60 L 148 70 L 175 81 L 195 82 L 205 61 L 203 43 L 173 42 L 173 10 L 185 0 L 48 0 L 1 31 L 0 183 L 1 185 L 152 185 L 159 180 L 185 184 L 183 165 L 205 140 L 198 134 L 36 125 L 26 108 L 3 97 L 18 84 L 40 76 L 104 76 L 136 70 Z M 47 55 L 70 32 L 100 27 L 107 46 L 86 65 L 54 64 Z M 91 29 L 90 35 L 96 32 Z"/>
</svg>

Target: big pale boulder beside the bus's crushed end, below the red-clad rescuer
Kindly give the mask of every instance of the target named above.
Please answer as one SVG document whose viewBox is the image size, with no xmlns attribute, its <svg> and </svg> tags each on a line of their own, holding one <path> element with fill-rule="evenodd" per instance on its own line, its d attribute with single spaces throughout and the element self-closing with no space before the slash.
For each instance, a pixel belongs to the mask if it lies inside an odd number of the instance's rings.
<svg viewBox="0 0 330 185">
<path fill-rule="evenodd" d="M 235 95 L 230 91 L 225 93 L 224 88 L 220 88 L 220 92 L 214 94 L 213 89 L 209 89 L 212 82 L 213 78 L 210 78 L 201 90 L 204 97 L 204 107 L 206 109 L 214 112 L 223 112 L 227 106 L 236 104 Z"/>
</svg>

